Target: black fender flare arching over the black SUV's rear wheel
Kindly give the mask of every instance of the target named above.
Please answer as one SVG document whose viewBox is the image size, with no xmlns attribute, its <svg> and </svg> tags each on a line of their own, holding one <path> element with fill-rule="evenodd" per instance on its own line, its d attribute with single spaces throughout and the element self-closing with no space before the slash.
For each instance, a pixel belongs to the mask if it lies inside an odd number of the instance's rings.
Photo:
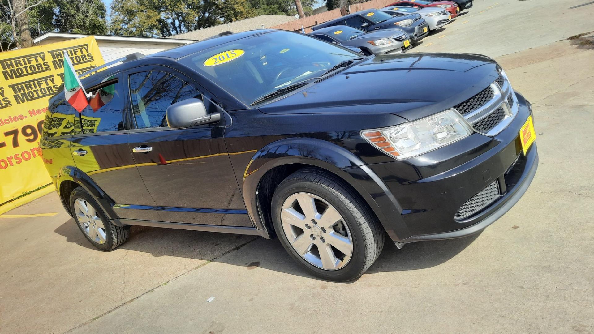
<svg viewBox="0 0 594 334">
<path fill-rule="evenodd" d="M 85 172 L 81 171 L 74 166 L 64 166 L 58 172 L 58 177 L 56 178 L 56 189 L 58 189 L 58 194 L 60 198 L 62 198 L 62 194 L 60 194 L 60 187 L 62 182 L 64 181 L 72 181 L 83 187 L 86 191 L 88 191 L 99 203 L 103 212 L 108 215 L 110 220 L 117 219 L 118 215 L 113 211 L 112 207 L 115 204 L 115 201 L 112 200 L 111 197 L 108 196 L 105 191 L 103 191 L 99 185 L 96 184 L 89 175 Z M 62 198 L 64 200 L 64 204 L 69 206 L 70 198 Z M 69 210 L 68 210 L 69 212 Z"/>
</svg>

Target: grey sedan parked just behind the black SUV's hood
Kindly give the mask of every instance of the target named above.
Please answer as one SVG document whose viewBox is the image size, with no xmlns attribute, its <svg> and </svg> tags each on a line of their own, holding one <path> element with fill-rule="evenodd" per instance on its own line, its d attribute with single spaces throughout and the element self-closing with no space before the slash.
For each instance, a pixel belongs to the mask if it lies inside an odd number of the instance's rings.
<svg viewBox="0 0 594 334">
<path fill-rule="evenodd" d="M 349 26 L 330 26 L 314 30 L 310 36 L 342 46 L 355 46 L 364 55 L 401 53 L 410 48 L 409 36 L 400 29 L 365 31 Z"/>
</svg>

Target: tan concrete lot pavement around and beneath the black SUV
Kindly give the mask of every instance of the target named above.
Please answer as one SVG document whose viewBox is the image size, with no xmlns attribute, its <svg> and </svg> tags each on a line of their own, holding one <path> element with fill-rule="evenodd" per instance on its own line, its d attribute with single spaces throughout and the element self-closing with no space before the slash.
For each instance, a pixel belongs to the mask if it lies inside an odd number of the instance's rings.
<svg viewBox="0 0 594 334">
<path fill-rule="evenodd" d="M 476 0 L 411 51 L 494 56 L 533 103 L 538 172 L 481 234 L 387 243 L 332 283 L 250 236 L 133 226 L 102 253 L 49 194 L 0 216 L 0 332 L 594 332 L 594 50 L 566 40 L 587 2 Z"/>
</svg>

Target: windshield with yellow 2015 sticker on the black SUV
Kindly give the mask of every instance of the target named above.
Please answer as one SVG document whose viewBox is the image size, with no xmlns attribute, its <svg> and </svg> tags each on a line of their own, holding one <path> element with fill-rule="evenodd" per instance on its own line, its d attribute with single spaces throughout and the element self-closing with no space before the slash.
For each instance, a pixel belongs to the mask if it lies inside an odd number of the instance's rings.
<svg viewBox="0 0 594 334">
<path fill-rule="evenodd" d="M 359 53 L 292 31 L 233 40 L 179 59 L 250 105 L 290 84 L 319 77 Z"/>
</svg>

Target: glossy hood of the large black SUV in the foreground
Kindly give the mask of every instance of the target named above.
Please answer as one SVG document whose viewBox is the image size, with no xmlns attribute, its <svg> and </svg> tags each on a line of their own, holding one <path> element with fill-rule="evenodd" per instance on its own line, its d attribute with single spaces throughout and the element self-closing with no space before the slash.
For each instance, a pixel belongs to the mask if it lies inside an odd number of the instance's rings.
<svg viewBox="0 0 594 334">
<path fill-rule="evenodd" d="M 265 114 L 386 113 L 412 120 L 469 99 L 498 75 L 493 59 L 465 53 L 371 56 L 258 109 Z"/>
</svg>

